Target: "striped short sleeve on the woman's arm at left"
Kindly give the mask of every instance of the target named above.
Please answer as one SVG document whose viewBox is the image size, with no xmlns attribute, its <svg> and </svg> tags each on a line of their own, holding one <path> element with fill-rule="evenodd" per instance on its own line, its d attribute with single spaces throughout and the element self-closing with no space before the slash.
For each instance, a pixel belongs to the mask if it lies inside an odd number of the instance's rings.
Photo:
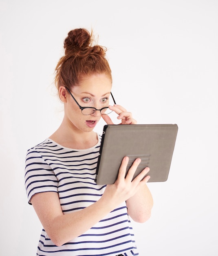
<svg viewBox="0 0 218 256">
<path fill-rule="evenodd" d="M 41 192 L 58 192 L 58 182 L 51 166 L 45 162 L 37 150 L 31 148 L 26 153 L 25 188 L 29 204 L 31 197 Z"/>
</svg>

